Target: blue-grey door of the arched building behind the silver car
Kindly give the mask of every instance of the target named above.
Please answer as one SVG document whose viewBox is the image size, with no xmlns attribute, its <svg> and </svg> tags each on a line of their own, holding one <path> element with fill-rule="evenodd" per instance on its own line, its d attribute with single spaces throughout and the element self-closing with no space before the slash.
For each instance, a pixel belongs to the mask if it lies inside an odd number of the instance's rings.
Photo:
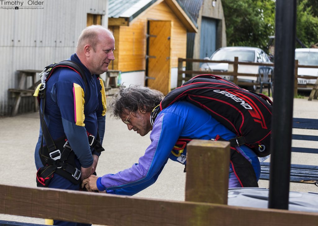
<svg viewBox="0 0 318 226">
<path fill-rule="evenodd" d="M 200 40 L 200 59 L 210 57 L 215 52 L 217 37 L 217 20 L 202 17 L 201 40 Z"/>
</svg>

